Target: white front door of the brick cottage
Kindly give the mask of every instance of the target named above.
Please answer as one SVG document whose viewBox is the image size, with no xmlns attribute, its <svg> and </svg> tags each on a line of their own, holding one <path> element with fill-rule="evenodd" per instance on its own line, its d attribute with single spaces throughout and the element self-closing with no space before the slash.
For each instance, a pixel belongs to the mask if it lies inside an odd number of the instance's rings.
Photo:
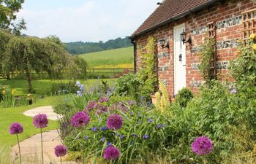
<svg viewBox="0 0 256 164">
<path fill-rule="evenodd" d="M 174 94 L 186 87 L 186 45 L 181 41 L 185 25 L 175 26 L 174 36 Z"/>
</svg>

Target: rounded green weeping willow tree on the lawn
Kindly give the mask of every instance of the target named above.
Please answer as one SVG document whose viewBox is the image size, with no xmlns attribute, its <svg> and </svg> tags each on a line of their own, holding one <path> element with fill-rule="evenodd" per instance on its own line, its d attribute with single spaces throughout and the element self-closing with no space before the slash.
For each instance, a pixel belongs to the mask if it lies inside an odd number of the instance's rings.
<svg viewBox="0 0 256 164">
<path fill-rule="evenodd" d="M 46 71 L 51 79 L 61 77 L 68 60 L 64 48 L 50 39 L 12 36 L 5 45 L 3 62 L 5 71 L 25 75 L 29 93 L 33 93 L 32 71 Z"/>
</svg>

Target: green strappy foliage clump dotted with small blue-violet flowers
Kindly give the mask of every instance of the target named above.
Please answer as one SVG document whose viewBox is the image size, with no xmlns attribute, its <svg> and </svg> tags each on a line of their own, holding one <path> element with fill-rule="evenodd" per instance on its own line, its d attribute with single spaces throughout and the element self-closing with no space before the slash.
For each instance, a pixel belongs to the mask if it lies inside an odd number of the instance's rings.
<svg viewBox="0 0 256 164">
<path fill-rule="evenodd" d="M 111 98 L 112 99 L 112 98 Z M 110 101 L 115 101 L 111 100 Z M 64 139 L 69 150 L 79 152 L 82 146 L 87 163 L 95 162 L 103 163 L 102 151 L 111 143 L 121 150 L 121 158 L 116 163 L 131 163 L 138 160 L 143 161 L 141 156 L 143 152 L 154 152 L 156 155 L 165 154 L 165 146 L 168 141 L 165 138 L 165 128 L 167 128 L 167 117 L 162 116 L 154 109 L 144 109 L 138 106 L 129 106 L 126 104 L 128 111 L 120 109 L 112 109 L 109 102 L 104 103 L 109 107 L 109 112 L 102 113 L 99 116 L 94 114 L 96 111 L 90 112 L 91 121 L 88 127 L 75 130 L 70 136 Z M 103 105 L 103 104 L 102 104 Z M 123 118 L 124 125 L 121 130 L 100 130 L 100 127 L 106 127 L 106 122 L 110 114 L 117 113 Z M 91 128 L 97 127 L 94 132 Z M 148 135 L 148 136 L 147 136 Z M 88 136 L 88 139 L 85 138 Z M 104 137 L 104 139 L 102 139 Z"/>
</svg>

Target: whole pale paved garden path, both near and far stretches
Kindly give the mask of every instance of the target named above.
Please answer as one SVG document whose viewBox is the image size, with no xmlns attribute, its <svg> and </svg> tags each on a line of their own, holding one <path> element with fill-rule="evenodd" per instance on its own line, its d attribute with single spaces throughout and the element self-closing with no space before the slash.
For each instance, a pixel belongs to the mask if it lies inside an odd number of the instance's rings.
<svg viewBox="0 0 256 164">
<path fill-rule="evenodd" d="M 53 112 L 52 106 L 42 106 L 35 109 L 30 109 L 23 114 L 34 117 L 37 114 L 47 114 L 48 119 L 57 120 L 61 115 Z M 54 147 L 61 144 L 61 138 L 57 130 L 48 130 L 42 133 L 43 149 L 44 149 L 44 164 L 59 164 L 59 157 L 54 155 Z M 23 164 L 41 164 L 41 136 L 40 133 L 31 138 L 20 142 L 21 158 Z M 18 145 L 12 147 L 12 159 L 18 158 Z M 63 162 L 63 164 L 73 164 L 72 162 Z M 75 164 L 75 163 L 74 163 Z"/>
</svg>

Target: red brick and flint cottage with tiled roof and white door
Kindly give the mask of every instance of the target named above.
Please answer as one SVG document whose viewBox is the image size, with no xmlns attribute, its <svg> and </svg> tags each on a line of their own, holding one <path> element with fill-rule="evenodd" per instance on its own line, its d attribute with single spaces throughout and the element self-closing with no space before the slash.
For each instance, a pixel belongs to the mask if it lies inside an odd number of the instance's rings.
<svg viewBox="0 0 256 164">
<path fill-rule="evenodd" d="M 247 39 L 255 32 L 255 8 L 253 0 L 165 0 L 159 3 L 130 37 L 135 47 L 135 71 L 140 69 L 140 50 L 153 36 L 157 40 L 157 77 L 167 86 L 170 95 L 175 95 L 182 87 L 196 92 L 203 82 L 199 47 L 206 37 L 213 37 L 217 53 L 212 58 L 212 71 L 217 79 L 232 80 L 227 75 L 227 65 L 236 58 L 238 39 Z M 183 43 L 181 33 L 184 32 L 191 43 Z M 164 48 L 161 41 L 165 41 Z"/>
</svg>

